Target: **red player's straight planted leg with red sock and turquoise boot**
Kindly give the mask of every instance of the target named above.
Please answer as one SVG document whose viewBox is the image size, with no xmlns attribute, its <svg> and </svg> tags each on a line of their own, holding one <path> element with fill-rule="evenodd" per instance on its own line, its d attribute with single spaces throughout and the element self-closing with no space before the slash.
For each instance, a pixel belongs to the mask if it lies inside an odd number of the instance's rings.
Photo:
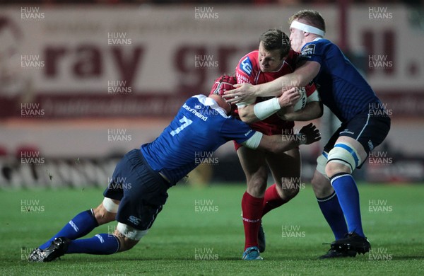
<svg viewBox="0 0 424 276">
<path fill-rule="evenodd" d="M 268 168 L 264 151 L 248 149 L 245 146 L 237 149 L 243 171 L 247 179 L 247 190 L 242 197 L 242 219 L 245 229 L 245 260 L 259 260 L 258 232 L 261 225 L 262 208 Z"/>
</svg>

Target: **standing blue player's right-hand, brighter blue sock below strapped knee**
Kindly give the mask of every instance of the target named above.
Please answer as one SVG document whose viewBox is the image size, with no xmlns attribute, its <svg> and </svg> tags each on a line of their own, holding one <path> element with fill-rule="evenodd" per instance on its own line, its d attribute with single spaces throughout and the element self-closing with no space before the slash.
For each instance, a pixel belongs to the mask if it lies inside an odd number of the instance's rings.
<svg viewBox="0 0 424 276">
<path fill-rule="evenodd" d="M 349 233 L 355 232 L 365 237 L 360 219 L 359 192 L 355 180 L 348 173 L 337 173 L 331 177 L 331 185 L 336 191 L 338 202 L 348 222 Z"/>
</svg>

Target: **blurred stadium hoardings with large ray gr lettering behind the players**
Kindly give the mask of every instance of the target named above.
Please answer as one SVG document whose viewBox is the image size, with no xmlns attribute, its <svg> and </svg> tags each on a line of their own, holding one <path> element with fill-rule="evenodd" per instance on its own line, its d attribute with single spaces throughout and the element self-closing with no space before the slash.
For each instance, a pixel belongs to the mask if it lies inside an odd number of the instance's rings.
<svg viewBox="0 0 424 276">
<path fill-rule="evenodd" d="M 357 178 L 424 180 L 422 3 L 178 3 L 1 3 L 1 187 L 105 187 L 122 154 L 160 134 L 186 98 L 232 74 L 265 30 L 288 32 L 288 17 L 302 8 L 323 14 L 326 38 L 348 52 L 391 113 L 389 137 Z M 325 141 L 337 122 L 326 111 L 317 125 Z M 302 146 L 306 183 L 320 149 Z M 232 143 L 209 157 L 191 183 L 244 182 Z"/>
</svg>

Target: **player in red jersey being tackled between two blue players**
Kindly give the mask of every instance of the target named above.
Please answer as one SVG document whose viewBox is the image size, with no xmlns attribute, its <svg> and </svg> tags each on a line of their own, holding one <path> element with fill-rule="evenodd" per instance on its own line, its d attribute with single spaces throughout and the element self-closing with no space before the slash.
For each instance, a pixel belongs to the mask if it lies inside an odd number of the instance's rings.
<svg viewBox="0 0 424 276">
<path fill-rule="evenodd" d="M 281 30 L 271 29 L 259 38 L 259 50 L 240 59 L 235 69 L 237 83 L 264 84 L 295 70 L 299 54 L 290 49 L 290 41 Z M 305 86 L 307 101 L 301 110 L 293 110 L 299 100 L 297 88 L 281 91 L 280 98 L 258 97 L 255 103 L 238 103 L 237 113 L 252 129 L 266 135 L 293 134 L 295 120 L 314 120 L 322 116 L 322 104 L 314 84 Z M 247 178 L 247 190 L 242 197 L 242 219 L 245 227 L 243 260 L 259 260 L 265 250 L 261 219 L 267 212 L 280 207 L 298 194 L 300 188 L 300 151 L 266 153 L 235 143 L 237 156 Z M 268 169 L 275 184 L 266 189 Z M 259 241 L 258 241 L 259 235 Z"/>
</svg>

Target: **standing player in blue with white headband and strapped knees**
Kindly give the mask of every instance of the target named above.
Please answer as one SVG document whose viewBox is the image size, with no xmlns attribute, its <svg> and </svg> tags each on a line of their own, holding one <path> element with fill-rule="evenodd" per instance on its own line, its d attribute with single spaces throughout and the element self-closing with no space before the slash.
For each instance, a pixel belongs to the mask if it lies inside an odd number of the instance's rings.
<svg viewBox="0 0 424 276">
<path fill-rule="evenodd" d="M 298 68 L 269 83 L 237 84 L 224 98 L 249 102 L 259 96 L 280 96 L 282 90 L 314 81 L 322 103 L 341 121 L 318 157 L 312 179 L 319 207 L 335 236 L 320 258 L 365 254 L 371 245 L 363 231 L 359 192 L 351 173 L 387 137 L 390 118 L 359 71 L 333 42 L 324 39 L 325 23 L 317 11 L 299 11 L 289 23 L 291 46 L 300 52 Z"/>
</svg>

